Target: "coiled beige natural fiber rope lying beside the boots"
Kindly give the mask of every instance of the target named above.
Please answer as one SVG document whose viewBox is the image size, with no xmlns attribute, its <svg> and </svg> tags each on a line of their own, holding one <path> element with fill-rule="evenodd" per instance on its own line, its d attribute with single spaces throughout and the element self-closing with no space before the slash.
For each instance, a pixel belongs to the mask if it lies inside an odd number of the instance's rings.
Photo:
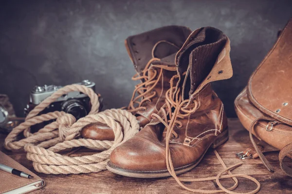
<svg viewBox="0 0 292 194">
<path fill-rule="evenodd" d="M 37 115 L 58 97 L 72 91 L 79 91 L 90 97 L 92 107 L 89 115 L 80 118 L 77 122 L 72 114 L 64 112 Z M 136 117 L 125 110 L 111 109 L 97 113 L 98 108 L 98 96 L 92 89 L 77 84 L 65 86 L 37 105 L 27 115 L 25 122 L 9 133 L 4 146 L 9 150 L 18 150 L 23 147 L 27 152 L 27 159 L 33 161 L 35 170 L 45 174 L 79 174 L 105 170 L 111 151 L 135 135 L 139 130 L 139 124 Z M 56 121 L 34 134 L 30 132 L 32 125 L 52 119 Z M 76 139 L 83 127 L 94 122 L 107 124 L 113 129 L 114 141 Z M 26 138 L 16 141 L 21 132 Z M 80 146 L 105 151 L 82 157 L 69 157 L 57 153 L 67 148 Z"/>
</svg>

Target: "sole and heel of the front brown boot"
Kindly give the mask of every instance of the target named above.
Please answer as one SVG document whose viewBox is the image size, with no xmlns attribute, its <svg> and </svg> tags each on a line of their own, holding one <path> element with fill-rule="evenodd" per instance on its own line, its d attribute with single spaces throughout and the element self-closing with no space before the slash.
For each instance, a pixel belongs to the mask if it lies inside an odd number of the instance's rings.
<svg viewBox="0 0 292 194">
<path fill-rule="evenodd" d="M 221 134 L 219 134 L 218 137 L 215 139 L 215 141 L 212 144 L 210 144 L 209 147 L 216 148 L 216 147 L 224 144 L 227 140 L 228 140 L 228 129 L 224 130 Z M 175 168 L 174 169 L 175 173 L 177 175 L 183 174 L 185 172 L 190 171 L 194 167 L 196 167 L 201 162 L 203 157 L 205 156 L 209 147 L 205 150 L 205 152 L 201 155 L 201 157 L 196 162 L 184 165 L 182 167 Z M 128 170 L 128 169 L 117 167 L 114 164 L 112 164 L 111 162 L 108 162 L 107 169 L 110 172 L 113 172 L 115 174 L 123 175 L 126 177 L 133 177 L 133 178 L 162 178 L 162 177 L 171 176 L 167 169 L 166 170 L 155 170 L 155 171 L 138 171 L 138 170 L 136 171 L 136 170 Z"/>
</svg>

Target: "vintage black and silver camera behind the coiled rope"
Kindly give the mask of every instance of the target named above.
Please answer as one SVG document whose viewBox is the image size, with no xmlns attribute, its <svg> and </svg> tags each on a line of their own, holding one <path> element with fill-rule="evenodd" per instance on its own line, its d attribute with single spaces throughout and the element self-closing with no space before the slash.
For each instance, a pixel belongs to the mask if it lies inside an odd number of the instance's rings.
<svg viewBox="0 0 292 194">
<path fill-rule="evenodd" d="M 89 80 L 83 80 L 79 83 L 80 85 L 85 85 L 88 88 L 95 91 L 95 83 Z M 44 85 L 44 86 L 35 86 L 30 94 L 30 102 L 26 105 L 24 113 L 27 115 L 32 111 L 38 104 L 40 104 L 44 99 L 51 96 L 58 89 L 63 86 L 55 85 Z M 40 114 L 50 113 L 54 111 L 64 111 L 65 113 L 72 114 L 76 120 L 81 117 L 86 116 L 91 110 L 90 98 L 81 92 L 73 91 L 65 94 L 51 103 L 46 107 Z M 45 125 L 49 124 L 50 121 L 40 123 L 31 127 L 33 132 L 36 132 L 38 129 L 43 128 Z"/>
</svg>

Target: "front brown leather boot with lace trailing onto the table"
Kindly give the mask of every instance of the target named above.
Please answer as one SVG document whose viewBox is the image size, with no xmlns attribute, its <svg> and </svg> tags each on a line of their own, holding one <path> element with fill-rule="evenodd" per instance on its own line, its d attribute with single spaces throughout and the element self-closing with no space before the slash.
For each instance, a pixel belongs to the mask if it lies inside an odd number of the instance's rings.
<svg viewBox="0 0 292 194">
<path fill-rule="evenodd" d="M 177 84 L 170 83 L 164 106 L 112 151 L 107 169 L 137 178 L 176 176 L 194 168 L 210 146 L 226 142 L 227 118 L 210 82 L 232 77 L 229 51 L 230 41 L 221 31 L 192 32 L 176 54 Z"/>
</svg>

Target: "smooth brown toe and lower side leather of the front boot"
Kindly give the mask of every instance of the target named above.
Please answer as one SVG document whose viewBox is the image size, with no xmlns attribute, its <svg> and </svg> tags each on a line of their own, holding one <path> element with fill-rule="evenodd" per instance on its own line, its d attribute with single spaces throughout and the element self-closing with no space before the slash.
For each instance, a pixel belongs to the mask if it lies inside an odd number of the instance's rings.
<svg viewBox="0 0 292 194">
<path fill-rule="evenodd" d="M 110 154 L 110 162 L 129 170 L 165 170 L 165 141 L 159 138 L 161 130 L 157 126 L 146 126 L 134 138 L 115 148 Z M 195 147 L 170 144 L 174 167 L 198 161 L 215 138 L 215 135 L 202 138 Z"/>
</svg>

